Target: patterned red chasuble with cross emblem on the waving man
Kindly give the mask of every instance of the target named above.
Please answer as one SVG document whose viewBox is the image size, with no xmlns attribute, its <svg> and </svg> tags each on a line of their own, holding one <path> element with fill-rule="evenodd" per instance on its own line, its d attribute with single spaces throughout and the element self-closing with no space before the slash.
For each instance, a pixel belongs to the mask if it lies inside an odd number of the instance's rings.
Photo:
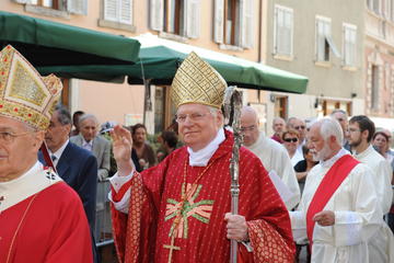
<svg viewBox="0 0 394 263">
<path fill-rule="evenodd" d="M 135 173 L 113 194 L 117 202 L 131 185 L 128 215 L 113 207 L 119 262 L 169 262 L 170 253 L 172 262 L 229 262 L 224 214 L 231 209 L 229 165 L 233 136 L 229 132 L 225 136 L 207 171 L 206 167 L 188 165 L 184 147 L 158 167 Z M 286 206 L 259 159 L 245 148 L 240 153 L 240 215 L 247 220 L 253 245 L 250 253 L 240 243 L 240 256 L 244 262 L 292 262 L 294 245 Z M 183 185 L 189 196 L 172 243 L 170 235 L 181 209 Z M 170 249 L 171 244 L 176 248 Z"/>
</svg>

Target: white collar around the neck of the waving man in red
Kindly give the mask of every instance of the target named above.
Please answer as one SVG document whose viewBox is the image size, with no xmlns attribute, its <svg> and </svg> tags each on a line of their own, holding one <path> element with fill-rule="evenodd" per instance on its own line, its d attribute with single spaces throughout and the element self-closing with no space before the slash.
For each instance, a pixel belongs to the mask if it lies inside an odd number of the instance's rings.
<svg viewBox="0 0 394 263">
<path fill-rule="evenodd" d="M 219 148 L 219 145 L 223 142 L 224 139 L 224 129 L 220 128 L 215 139 L 201 150 L 193 151 L 190 147 L 187 147 L 187 151 L 189 153 L 189 164 L 192 167 L 206 167 L 215 151 Z"/>
</svg>

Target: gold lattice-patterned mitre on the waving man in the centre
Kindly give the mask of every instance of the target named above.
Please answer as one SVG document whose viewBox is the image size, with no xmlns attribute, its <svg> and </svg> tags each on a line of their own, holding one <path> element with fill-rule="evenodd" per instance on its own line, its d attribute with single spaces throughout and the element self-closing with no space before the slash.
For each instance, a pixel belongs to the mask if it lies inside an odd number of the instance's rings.
<svg viewBox="0 0 394 263">
<path fill-rule="evenodd" d="M 225 88 L 225 80 L 218 71 L 192 52 L 176 71 L 171 98 L 176 107 L 200 103 L 220 108 Z"/>
</svg>

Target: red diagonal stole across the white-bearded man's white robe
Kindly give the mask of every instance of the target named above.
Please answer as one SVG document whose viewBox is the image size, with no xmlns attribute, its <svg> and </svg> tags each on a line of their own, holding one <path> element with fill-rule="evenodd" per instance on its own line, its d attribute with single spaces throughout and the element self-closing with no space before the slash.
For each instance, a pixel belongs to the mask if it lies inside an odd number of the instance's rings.
<svg viewBox="0 0 394 263">
<path fill-rule="evenodd" d="M 358 163 L 360 162 L 350 155 L 343 156 L 334 163 L 320 183 L 306 211 L 306 233 L 311 247 L 315 225 L 315 221 L 313 221 L 314 215 L 323 210 L 333 194 Z"/>
</svg>

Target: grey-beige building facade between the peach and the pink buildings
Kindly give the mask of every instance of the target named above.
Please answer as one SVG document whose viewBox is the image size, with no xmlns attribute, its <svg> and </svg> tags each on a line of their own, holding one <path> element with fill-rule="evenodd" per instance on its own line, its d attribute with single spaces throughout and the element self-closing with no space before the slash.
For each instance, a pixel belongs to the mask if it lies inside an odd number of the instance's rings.
<svg viewBox="0 0 394 263">
<path fill-rule="evenodd" d="M 359 0 L 267 1 L 264 62 L 309 78 L 305 94 L 264 92 L 270 117 L 363 114 L 364 5 Z M 270 127 L 267 127 L 269 130 Z"/>
</svg>

